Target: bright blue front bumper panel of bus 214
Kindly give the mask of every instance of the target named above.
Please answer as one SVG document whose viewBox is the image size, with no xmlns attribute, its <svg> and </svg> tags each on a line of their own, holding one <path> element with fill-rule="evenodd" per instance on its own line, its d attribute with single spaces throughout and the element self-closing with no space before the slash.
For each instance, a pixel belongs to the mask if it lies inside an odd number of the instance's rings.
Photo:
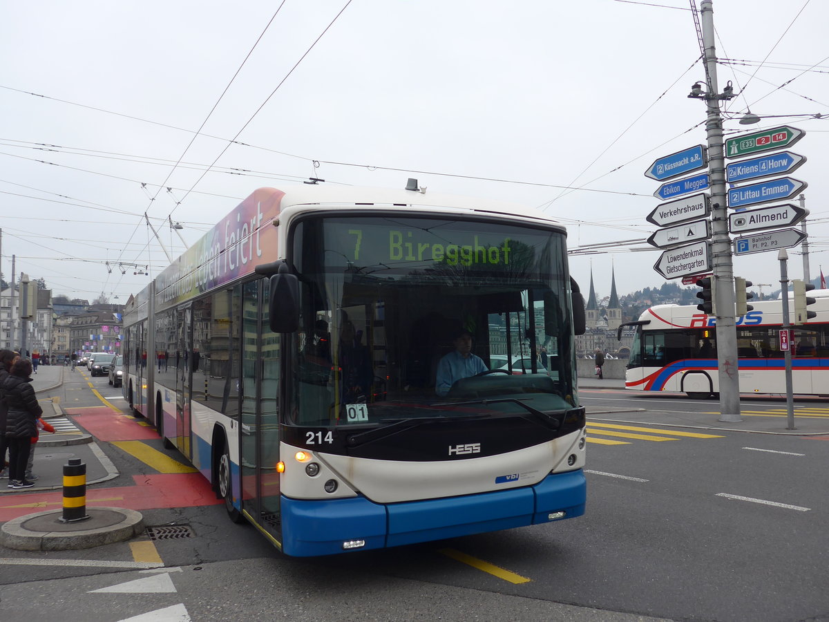
<svg viewBox="0 0 829 622">
<path fill-rule="evenodd" d="M 581 470 L 548 475 L 527 488 L 388 505 L 364 497 L 283 497 L 282 550 L 292 556 L 331 555 L 348 550 L 345 542 L 352 550 L 366 550 L 536 525 L 581 516 L 586 498 Z"/>
</svg>

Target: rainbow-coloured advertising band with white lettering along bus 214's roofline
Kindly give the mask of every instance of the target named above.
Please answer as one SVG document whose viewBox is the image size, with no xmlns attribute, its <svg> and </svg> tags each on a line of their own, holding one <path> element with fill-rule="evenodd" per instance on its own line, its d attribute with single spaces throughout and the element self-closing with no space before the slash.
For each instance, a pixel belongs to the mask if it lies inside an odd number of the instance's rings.
<svg viewBox="0 0 829 622">
<path fill-rule="evenodd" d="M 284 195 L 259 188 L 174 260 L 156 279 L 156 309 L 250 274 L 267 247 L 269 256 L 276 256 L 277 228 L 271 221 L 279 216 Z"/>
</svg>

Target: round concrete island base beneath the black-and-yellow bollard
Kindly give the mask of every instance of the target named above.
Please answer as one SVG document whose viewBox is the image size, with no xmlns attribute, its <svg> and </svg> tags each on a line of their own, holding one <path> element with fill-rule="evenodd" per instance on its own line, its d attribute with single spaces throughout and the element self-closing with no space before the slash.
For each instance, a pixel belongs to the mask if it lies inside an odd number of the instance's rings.
<svg viewBox="0 0 829 622">
<path fill-rule="evenodd" d="M 72 551 L 124 542 L 144 530 L 143 516 L 124 508 L 87 508 L 89 518 L 61 522 L 63 510 L 27 514 L 0 527 L 0 545 L 17 551 Z"/>
</svg>

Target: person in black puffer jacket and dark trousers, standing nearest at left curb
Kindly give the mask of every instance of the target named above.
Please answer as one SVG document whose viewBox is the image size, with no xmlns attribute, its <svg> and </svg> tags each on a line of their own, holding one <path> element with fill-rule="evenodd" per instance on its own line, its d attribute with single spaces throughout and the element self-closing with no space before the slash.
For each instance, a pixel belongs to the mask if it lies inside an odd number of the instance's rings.
<svg viewBox="0 0 829 622">
<path fill-rule="evenodd" d="M 2 383 L 8 406 L 6 438 L 8 441 L 8 487 L 32 488 L 26 479 L 26 465 L 32 450 L 32 436 L 37 435 L 37 420 L 43 414 L 32 388 L 32 361 L 18 358 Z"/>
</svg>

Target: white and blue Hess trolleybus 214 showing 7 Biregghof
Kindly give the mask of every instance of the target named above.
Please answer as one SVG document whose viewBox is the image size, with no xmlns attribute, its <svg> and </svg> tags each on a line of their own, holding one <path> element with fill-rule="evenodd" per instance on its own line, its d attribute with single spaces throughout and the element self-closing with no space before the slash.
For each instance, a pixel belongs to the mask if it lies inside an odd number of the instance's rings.
<svg viewBox="0 0 829 622">
<path fill-rule="evenodd" d="M 259 189 L 130 299 L 124 396 L 288 555 L 577 517 L 565 236 L 423 189 Z M 488 370 L 436 389 L 463 332 Z"/>
</svg>

